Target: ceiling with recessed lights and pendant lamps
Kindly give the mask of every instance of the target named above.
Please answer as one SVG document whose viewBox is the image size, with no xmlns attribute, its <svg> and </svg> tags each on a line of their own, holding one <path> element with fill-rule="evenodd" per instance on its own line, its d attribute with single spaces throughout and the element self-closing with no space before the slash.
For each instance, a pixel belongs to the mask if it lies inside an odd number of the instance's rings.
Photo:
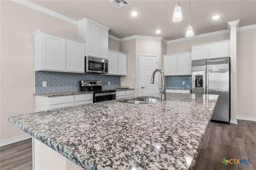
<svg viewBox="0 0 256 170">
<path fill-rule="evenodd" d="M 118 38 L 133 35 L 160 36 L 166 40 L 184 38 L 188 25 L 188 0 L 180 0 L 183 20 L 172 22 L 176 0 L 128 0 L 118 9 L 109 0 L 40 0 L 35 4 L 74 20 L 90 18 L 108 28 Z M 131 11 L 139 15 L 132 17 Z M 220 14 L 218 20 L 212 20 Z M 256 24 L 256 0 L 192 0 L 191 24 L 194 35 L 227 29 L 227 22 L 240 20 L 239 26 Z M 156 34 L 156 30 L 162 30 Z"/>
</svg>

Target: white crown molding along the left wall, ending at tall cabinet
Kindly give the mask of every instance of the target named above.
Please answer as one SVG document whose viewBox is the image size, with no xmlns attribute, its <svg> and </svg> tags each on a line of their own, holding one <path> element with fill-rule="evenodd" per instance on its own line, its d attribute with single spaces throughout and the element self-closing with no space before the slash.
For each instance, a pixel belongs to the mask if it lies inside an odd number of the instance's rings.
<svg viewBox="0 0 256 170">
<path fill-rule="evenodd" d="M 64 16 L 58 12 L 54 12 L 52 10 L 49 10 L 48 8 L 44 8 L 38 4 L 34 4 L 33 2 L 30 2 L 28 0 L 12 0 L 13 2 L 16 2 L 18 4 L 21 4 L 21 5 L 24 5 L 24 6 L 27 6 L 29 8 L 32 8 L 34 10 L 37 10 L 37 11 L 40 11 L 40 12 L 43 12 L 45 14 L 48 14 L 50 16 L 54 16 L 56 18 L 59 18 L 60 20 L 64 20 L 66 22 L 69 22 L 71 24 L 74 24 L 74 25 L 78 25 L 78 22 L 76 20 L 73 20 L 72 18 L 69 18 L 67 16 Z"/>
</svg>

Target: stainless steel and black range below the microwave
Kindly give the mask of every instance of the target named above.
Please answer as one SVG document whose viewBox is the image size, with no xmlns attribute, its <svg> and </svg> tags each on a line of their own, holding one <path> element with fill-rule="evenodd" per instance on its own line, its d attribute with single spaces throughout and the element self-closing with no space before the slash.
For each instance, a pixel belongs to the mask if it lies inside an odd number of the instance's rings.
<svg viewBox="0 0 256 170">
<path fill-rule="evenodd" d="M 116 99 L 116 91 L 102 89 L 102 81 L 81 80 L 80 91 L 93 91 L 93 103 Z"/>
</svg>

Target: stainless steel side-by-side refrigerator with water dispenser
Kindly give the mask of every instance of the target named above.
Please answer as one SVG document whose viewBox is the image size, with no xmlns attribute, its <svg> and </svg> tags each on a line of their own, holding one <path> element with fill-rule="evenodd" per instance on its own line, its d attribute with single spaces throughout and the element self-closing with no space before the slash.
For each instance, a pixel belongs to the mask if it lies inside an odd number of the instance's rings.
<svg viewBox="0 0 256 170">
<path fill-rule="evenodd" d="M 230 122 L 230 58 L 192 61 L 192 93 L 219 95 L 211 120 Z"/>
</svg>

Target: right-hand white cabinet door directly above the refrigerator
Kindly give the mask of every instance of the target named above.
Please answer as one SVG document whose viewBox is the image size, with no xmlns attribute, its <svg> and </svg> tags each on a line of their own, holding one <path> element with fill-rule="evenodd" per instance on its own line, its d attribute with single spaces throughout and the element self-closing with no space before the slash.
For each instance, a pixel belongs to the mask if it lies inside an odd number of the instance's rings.
<svg viewBox="0 0 256 170">
<path fill-rule="evenodd" d="M 229 42 L 210 45 L 210 58 L 229 57 Z"/>
</svg>

